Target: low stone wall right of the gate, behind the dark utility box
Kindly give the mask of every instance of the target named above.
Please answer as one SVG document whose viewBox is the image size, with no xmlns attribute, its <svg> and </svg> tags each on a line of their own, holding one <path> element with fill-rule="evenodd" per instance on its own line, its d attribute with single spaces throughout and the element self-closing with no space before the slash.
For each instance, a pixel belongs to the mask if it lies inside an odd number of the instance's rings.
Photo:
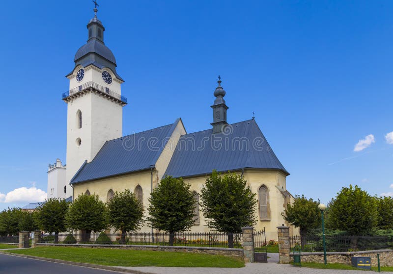
<svg viewBox="0 0 393 274">
<path fill-rule="evenodd" d="M 328 263 L 351 264 L 352 257 L 371 257 L 371 266 L 378 266 L 377 254 L 381 266 L 393 266 L 393 250 L 366 250 L 353 252 L 327 252 L 326 259 Z M 290 254 L 293 256 L 293 253 Z M 324 263 L 323 252 L 304 252 L 302 253 L 302 262 Z"/>
</svg>

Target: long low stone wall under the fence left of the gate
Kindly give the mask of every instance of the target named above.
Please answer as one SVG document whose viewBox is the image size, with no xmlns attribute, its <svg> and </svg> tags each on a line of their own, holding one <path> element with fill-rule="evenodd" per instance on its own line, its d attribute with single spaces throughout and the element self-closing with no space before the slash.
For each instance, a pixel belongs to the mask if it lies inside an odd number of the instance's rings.
<svg viewBox="0 0 393 274">
<path fill-rule="evenodd" d="M 36 247 L 78 247 L 96 249 L 132 249 L 132 250 L 151 250 L 151 251 L 170 251 L 170 252 L 192 252 L 213 255 L 223 255 L 238 257 L 243 259 L 243 249 L 225 249 L 208 247 L 170 247 L 170 246 L 139 246 L 139 245 L 82 245 L 82 244 L 36 244 Z"/>
</svg>

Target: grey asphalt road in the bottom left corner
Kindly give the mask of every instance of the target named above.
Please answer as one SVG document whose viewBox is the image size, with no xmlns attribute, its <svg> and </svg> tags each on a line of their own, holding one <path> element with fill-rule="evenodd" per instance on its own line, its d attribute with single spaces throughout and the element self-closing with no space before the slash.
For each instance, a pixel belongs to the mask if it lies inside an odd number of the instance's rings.
<svg viewBox="0 0 393 274">
<path fill-rule="evenodd" d="M 0 274 L 115 274 L 118 272 L 0 254 Z"/>
</svg>

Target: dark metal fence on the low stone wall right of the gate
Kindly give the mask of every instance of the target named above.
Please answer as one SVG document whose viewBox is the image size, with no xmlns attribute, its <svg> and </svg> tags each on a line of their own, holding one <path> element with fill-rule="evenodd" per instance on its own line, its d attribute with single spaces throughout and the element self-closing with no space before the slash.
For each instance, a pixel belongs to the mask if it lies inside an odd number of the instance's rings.
<svg viewBox="0 0 393 274">
<path fill-rule="evenodd" d="M 302 252 L 322 252 L 322 236 L 290 237 L 291 252 L 300 247 Z M 329 236 L 326 235 L 326 251 L 359 251 L 373 249 L 389 249 L 393 243 L 389 236 Z"/>
</svg>

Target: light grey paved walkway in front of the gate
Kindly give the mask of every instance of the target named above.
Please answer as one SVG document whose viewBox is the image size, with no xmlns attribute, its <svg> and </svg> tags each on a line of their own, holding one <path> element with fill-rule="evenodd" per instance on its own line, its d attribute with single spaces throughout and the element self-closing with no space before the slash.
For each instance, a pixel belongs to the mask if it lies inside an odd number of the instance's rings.
<svg viewBox="0 0 393 274">
<path fill-rule="evenodd" d="M 314 269 L 277 263 L 247 263 L 243 268 L 124 267 L 154 274 L 365 274 L 365 271 Z M 374 273 L 374 272 L 372 272 Z M 393 272 L 384 272 L 393 273 Z"/>
</svg>

